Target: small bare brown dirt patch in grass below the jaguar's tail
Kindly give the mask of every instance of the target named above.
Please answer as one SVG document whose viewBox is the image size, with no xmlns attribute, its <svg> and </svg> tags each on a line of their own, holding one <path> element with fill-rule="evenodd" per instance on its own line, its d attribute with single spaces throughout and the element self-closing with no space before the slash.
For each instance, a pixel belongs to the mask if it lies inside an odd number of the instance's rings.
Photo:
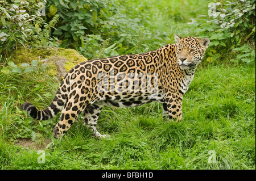
<svg viewBox="0 0 256 181">
<path fill-rule="evenodd" d="M 24 148 L 30 148 L 34 150 L 44 150 L 46 146 L 51 143 L 51 140 L 43 140 L 43 141 L 32 141 L 30 138 L 20 138 L 14 144 L 22 146 Z"/>
</svg>

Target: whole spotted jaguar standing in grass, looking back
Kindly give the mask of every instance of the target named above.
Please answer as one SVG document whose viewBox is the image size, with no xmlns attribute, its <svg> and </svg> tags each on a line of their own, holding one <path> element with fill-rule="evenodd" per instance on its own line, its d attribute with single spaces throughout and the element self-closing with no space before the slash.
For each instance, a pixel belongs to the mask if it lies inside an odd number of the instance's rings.
<svg viewBox="0 0 256 181">
<path fill-rule="evenodd" d="M 39 111 L 32 103 L 20 108 L 35 120 L 48 120 L 61 108 L 59 123 L 53 137 L 68 131 L 81 112 L 84 125 L 98 138 L 106 137 L 96 129 L 104 105 L 115 107 L 139 106 L 159 102 L 163 119 L 181 121 L 182 99 L 204 57 L 208 37 L 175 35 L 175 44 L 146 53 L 98 58 L 76 65 L 63 78 L 51 104 Z"/>
</svg>

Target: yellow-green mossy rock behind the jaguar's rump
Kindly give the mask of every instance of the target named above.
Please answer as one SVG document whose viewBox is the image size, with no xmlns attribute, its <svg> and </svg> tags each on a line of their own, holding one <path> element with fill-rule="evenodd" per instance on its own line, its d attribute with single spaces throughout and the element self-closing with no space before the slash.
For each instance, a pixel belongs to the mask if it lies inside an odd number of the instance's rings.
<svg viewBox="0 0 256 181">
<path fill-rule="evenodd" d="M 88 59 L 74 49 L 55 47 L 36 49 L 19 48 L 10 59 L 16 65 L 22 63 L 30 64 L 32 60 L 37 60 L 40 65 L 46 64 L 48 67 L 47 74 L 56 76 L 61 80 L 75 65 Z"/>
</svg>

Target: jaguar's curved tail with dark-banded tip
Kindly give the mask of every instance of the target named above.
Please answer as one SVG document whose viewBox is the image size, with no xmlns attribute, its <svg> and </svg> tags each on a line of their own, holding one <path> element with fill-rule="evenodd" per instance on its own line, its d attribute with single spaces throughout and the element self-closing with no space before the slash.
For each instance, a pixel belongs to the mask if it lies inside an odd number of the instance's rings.
<svg viewBox="0 0 256 181">
<path fill-rule="evenodd" d="M 67 89 L 65 86 L 63 86 L 63 83 L 61 83 L 55 97 L 52 100 L 52 103 L 45 110 L 38 111 L 38 109 L 36 109 L 32 103 L 24 103 L 20 106 L 20 108 L 27 111 L 28 114 L 36 120 L 48 120 L 60 112 L 61 108 L 66 102 Z"/>
</svg>

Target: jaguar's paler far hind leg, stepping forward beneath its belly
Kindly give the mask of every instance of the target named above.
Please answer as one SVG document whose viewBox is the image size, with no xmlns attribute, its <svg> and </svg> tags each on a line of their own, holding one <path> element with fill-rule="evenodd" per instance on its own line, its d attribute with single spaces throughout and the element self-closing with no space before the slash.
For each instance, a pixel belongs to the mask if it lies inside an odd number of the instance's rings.
<svg viewBox="0 0 256 181">
<path fill-rule="evenodd" d="M 86 127 L 93 132 L 92 135 L 98 138 L 107 136 L 105 134 L 102 135 L 96 129 L 98 116 L 100 116 L 100 112 L 103 106 L 104 105 L 102 103 L 98 102 L 86 107 L 84 110 L 84 125 L 86 124 Z"/>
</svg>

